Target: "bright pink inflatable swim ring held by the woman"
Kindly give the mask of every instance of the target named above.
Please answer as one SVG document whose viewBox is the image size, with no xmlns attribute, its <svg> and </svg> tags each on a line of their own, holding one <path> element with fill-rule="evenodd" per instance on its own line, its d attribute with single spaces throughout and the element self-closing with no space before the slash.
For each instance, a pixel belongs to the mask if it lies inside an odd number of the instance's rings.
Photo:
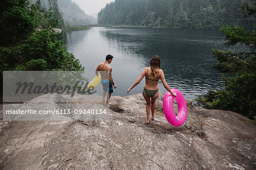
<svg viewBox="0 0 256 170">
<path fill-rule="evenodd" d="M 172 92 L 177 94 L 177 97 L 172 96 L 170 92 L 166 92 L 163 99 L 163 111 L 167 121 L 173 126 L 181 126 L 187 118 L 187 104 L 184 96 L 176 88 L 171 89 Z M 178 113 L 174 113 L 174 98 L 177 101 Z"/>
</svg>

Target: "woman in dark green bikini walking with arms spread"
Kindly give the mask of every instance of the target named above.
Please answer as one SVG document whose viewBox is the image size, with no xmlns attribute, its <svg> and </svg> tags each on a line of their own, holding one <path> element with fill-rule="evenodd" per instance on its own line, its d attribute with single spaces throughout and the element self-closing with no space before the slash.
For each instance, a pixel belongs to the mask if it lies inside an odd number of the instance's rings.
<svg viewBox="0 0 256 170">
<path fill-rule="evenodd" d="M 162 83 L 164 85 L 164 88 L 166 88 L 167 91 L 169 91 L 172 95 L 175 97 L 177 96 L 176 93 L 172 92 L 171 88 L 166 83 L 166 79 L 164 78 L 163 70 L 160 69 L 160 59 L 158 56 L 153 56 L 150 59 L 150 66 L 145 67 L 144 70 L 141 73 L 141 76 L 134 82 L 133 86 L 131 86 L 127 90 L 127 94 L 133 89 L 135 86 L 137 86 L 143 77 L 146 76 L 146 83 L 143 88 L 143 96 L 146 100 L 146 112 L 147 112 L 147 124 L 150 123 L 150 103 L 151 103 L 151 112 L 152 117 L 151 119 L 154 120 L 154 112 L 155 112 L 155 100 L 158 98 L 159 91 L 158 91 L 158 80 L 161 79 Z M 151 98 L 151 102 L 150 102 Z"/>
</svg>

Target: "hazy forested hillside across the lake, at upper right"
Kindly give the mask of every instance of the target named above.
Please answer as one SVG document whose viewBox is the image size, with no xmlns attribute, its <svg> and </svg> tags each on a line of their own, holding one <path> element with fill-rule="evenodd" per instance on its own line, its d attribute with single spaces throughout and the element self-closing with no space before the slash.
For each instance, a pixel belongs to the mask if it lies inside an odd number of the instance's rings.
<svg viewBox="0 0 256 170">
<path fill-rule="evenodd" d="M 101 25 L 219 29 L 223 25 L 248 25 L 241 0 L 115 0 L 98 13 Z"/>
</svg>

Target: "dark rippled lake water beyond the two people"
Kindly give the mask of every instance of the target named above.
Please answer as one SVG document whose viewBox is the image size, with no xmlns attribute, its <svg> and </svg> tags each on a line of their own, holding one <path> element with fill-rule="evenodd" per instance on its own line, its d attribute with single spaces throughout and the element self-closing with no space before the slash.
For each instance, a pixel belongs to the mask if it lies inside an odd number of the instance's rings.
<svg viewBox="0 0 256 170">
<path fill-rule="evenodd" d="M 157 54 L 168 85 L 180 90 L 184 97 L 195 99 L 211 88 L 223 87 L 222 74 L 212 68 L 217 60 L 211 49 L 224 49 L 220 31 L 168 28 L 105 28 L 68 31 L 64 44 L 85 67 L 95 70 L 107 54 L 114 56 L 113 79 L 117 85 L 113 95 L 127 96 L 127 89 L 139 77 L 150 58 Z M 130 94 L 142 92 L 142 82 Z M 159 80 L 159 90 L 166 92 Z"/>
</svg>

